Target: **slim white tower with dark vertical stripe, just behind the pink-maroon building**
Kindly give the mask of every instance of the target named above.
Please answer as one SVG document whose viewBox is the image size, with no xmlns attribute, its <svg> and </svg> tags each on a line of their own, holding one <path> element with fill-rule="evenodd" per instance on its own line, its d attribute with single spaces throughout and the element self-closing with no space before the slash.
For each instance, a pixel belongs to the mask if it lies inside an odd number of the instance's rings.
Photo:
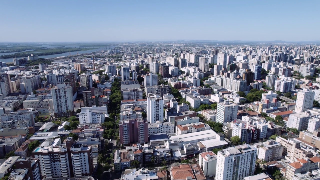
<svg viewBox="0 0 320 180">
<path fill-rule="evenodd" d="M 149 123 L 156 123 L 156 121 L 163 122 L 163 106 L 162 97 L 158 95 L 149 95 L 147 99 L 147 115 Z"/>
</svg>

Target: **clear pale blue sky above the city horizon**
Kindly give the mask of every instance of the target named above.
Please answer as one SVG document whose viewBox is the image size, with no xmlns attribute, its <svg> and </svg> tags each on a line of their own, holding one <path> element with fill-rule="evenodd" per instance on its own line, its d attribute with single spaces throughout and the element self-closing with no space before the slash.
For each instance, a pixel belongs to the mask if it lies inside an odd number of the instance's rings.
<svg viewBox="0 0 320 180">
<path fill-rule="evenodd" d="M 14 0 L 0 7 L 0 42 L 320 40 L 318 0 Z"/>
</svg>

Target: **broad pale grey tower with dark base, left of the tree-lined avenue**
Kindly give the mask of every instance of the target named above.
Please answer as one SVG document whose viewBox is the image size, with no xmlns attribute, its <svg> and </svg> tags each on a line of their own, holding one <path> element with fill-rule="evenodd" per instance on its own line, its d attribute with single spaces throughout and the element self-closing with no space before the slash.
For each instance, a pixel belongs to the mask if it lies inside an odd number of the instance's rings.
<svg viewBox="0 0 320 180">
<path fill-rule="evenodd" d="M 57 84 L 51 89 L 55 118 L 73 116 L 73 94 L 69 84 Z"/>
</svg>

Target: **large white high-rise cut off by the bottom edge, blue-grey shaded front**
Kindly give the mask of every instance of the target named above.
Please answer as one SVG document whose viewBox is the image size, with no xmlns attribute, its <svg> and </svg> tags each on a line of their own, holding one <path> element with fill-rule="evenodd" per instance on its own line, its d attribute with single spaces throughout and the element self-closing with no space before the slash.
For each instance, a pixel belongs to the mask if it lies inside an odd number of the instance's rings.
<svg viewBox="0 0 320 180">
<path fill-rule="evenodd" d="M 257 149 L 242 144 L 218 151 L 216 180 L 241 180 L 254 173 Z"/>
</svg>

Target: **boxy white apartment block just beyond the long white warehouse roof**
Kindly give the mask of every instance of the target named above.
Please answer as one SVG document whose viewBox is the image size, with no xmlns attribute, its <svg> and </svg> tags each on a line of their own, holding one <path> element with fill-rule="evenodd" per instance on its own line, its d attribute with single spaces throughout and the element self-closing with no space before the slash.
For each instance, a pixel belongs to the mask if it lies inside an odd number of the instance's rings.
<svg viewBox="0 0 320 180">
<path fill-rule="evenodd" d="M 225 123 L 237 119 L 238 105 L 225 100 L 218 103 L 217 122 Z"/>
</svg>

